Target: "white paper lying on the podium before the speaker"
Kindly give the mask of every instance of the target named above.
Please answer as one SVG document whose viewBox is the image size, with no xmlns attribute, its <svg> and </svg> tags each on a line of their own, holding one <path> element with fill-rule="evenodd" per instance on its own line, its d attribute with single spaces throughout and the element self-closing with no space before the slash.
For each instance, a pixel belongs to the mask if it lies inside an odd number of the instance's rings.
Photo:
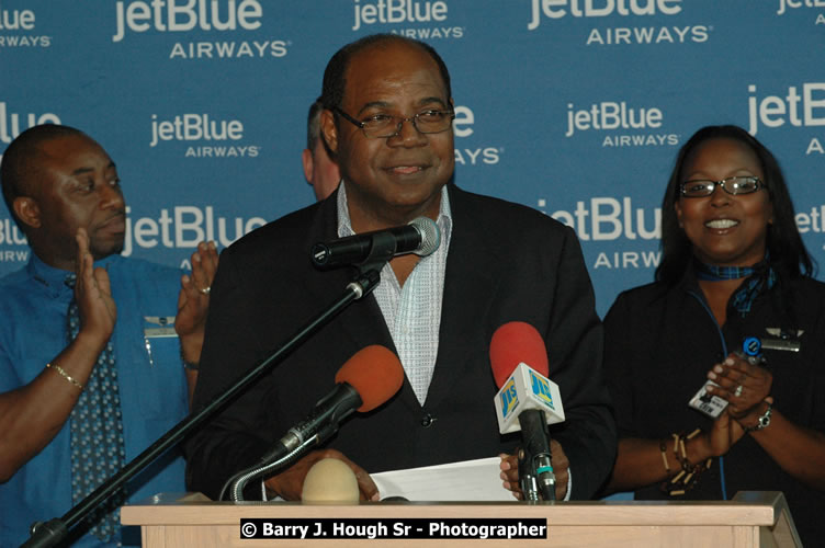
<svg viewBox="0 0 825 548">
<path fill-rule="evenodd" d="M 501 486 L 499 457 L 371 473 L 382 499 L 408 501 L 515 501 Z"/>
</svg>

